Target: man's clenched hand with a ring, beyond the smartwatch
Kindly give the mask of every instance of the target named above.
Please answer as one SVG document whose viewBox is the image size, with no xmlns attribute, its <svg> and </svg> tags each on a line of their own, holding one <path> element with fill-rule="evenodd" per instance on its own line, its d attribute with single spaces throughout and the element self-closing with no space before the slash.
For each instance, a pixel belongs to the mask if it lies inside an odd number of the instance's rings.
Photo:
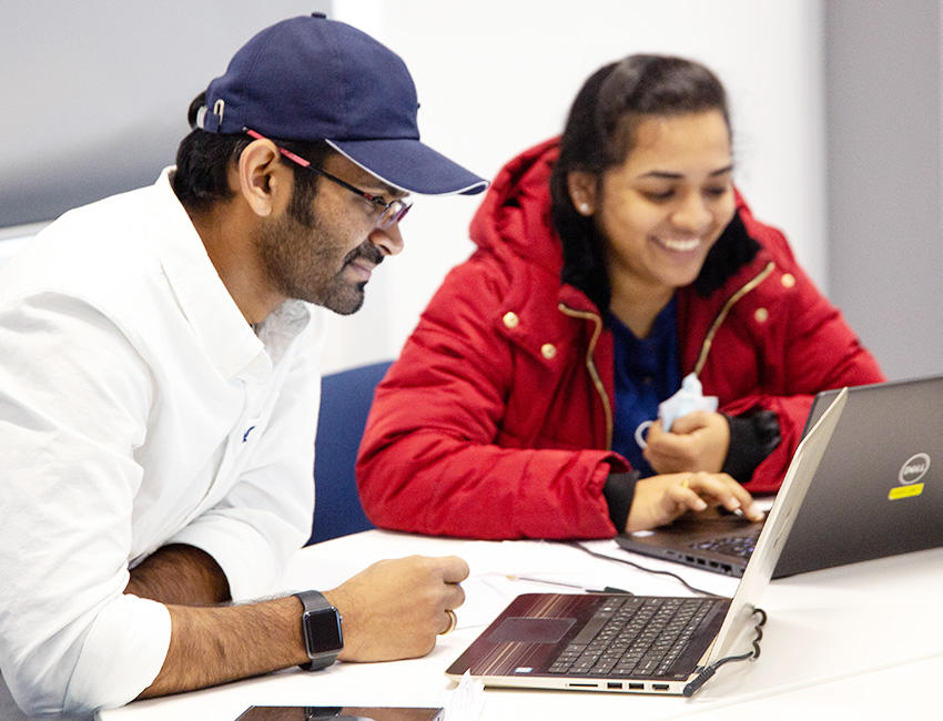
<svg viewBox="0 0 943 721">
<path fill-rule="evenodd" d="M 456 556 L 410 556 L 374 563 L 324 596 L 343 617 L 344 661 L 425 656 L 465 602 L 468 565 Z"/>
</svg>

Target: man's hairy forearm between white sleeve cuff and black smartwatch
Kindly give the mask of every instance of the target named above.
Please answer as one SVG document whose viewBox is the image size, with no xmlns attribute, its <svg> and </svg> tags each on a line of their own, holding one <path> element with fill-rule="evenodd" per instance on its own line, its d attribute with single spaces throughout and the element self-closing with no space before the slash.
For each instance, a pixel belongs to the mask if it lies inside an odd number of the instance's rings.
<svg viewBox="0 0 943 721">
<path fill-rule="evenodd" d="M 244 606 L 168 608 L 168 656 L 140 698 L 190 691 L 308 661 L 302 603 L 294 596 Z"/>
</svg>

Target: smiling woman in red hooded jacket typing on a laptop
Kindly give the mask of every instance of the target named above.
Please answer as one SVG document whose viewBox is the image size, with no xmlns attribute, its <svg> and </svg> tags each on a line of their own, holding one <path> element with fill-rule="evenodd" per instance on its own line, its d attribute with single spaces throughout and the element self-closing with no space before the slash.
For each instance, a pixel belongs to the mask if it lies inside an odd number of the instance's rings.
<svg viewBox="0 0 943 721">
<path fill-rule="evenodd" d="M 722 505 L 760 516 L 812 395 L 883 378 L 733 185 L 723 87 L 629 55 L 586 81 L 472 223 L 377 388 L 358 459 L 378 526 L 605 537 Z M 693 375 L 719 410 L 657 418 Z M 636 429 L 648 424 L 648 436 Z"/>
</svg>

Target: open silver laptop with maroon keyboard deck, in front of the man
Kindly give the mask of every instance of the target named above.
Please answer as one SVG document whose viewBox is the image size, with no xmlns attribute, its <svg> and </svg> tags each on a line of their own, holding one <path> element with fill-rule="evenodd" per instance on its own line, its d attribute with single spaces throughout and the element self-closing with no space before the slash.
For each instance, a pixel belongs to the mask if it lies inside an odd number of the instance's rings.
<svg viewBox="0 0 943 721">
<path fill-rule="evenodd" d="M 747 646 L 846 390 L 795 450 L 779 497 L 732 599 L 629 593 L 518 596 L 448 668 L 486 686 L 690 695 L 701 672 Z"/>
</svg>

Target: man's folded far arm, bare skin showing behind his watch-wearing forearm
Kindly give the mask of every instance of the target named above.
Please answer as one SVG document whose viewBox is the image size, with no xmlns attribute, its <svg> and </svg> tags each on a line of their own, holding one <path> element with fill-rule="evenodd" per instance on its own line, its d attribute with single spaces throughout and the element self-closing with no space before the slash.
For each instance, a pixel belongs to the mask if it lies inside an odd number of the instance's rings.
<svg viewBox="0 0 943 721">
<path fill-rule="evenodd" d="M 205 551 L 174 544 L 159 548 L 131 570 L 124 589 L 161 603 L 212 606 L 230 600 L 223 569 Z"/>
</svg>

